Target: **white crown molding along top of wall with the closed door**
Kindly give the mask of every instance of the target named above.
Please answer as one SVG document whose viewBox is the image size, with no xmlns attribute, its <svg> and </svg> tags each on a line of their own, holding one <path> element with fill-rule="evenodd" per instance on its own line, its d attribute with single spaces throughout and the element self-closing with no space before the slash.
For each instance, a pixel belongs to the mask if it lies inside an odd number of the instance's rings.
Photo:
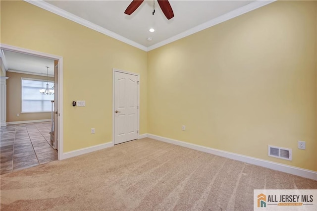
<svg viewBox="0 0 317 211">
<path fill-rule="evenodd" d="M 125 37 L 123 37 L 121 35 L 118 35 L 118 34 L 116 34 L 114 32 L 111 32 L 110 30 L 107 30 L 107 29 L 105 29 L 105 28 L 103 28 L 101 26 L 98 26 L 97 24 L 94 24 L 94 23 L 92 23 L 92 22 L 90 22 L 88 20 L 85 20 L 85 19 L 83 19 L 81 17 L 78 17 L 77 15 L 74 15 L 74 14 L 72 14 L 70 12 L 67 12 L 67 11 L 65 11 L 63 9 L 60 9 L 57 6 L 54 6 L 54 5 L 50 4 L 50 3 L 45 2 L 44 0 L 24 0 L 24 1 L 26 1 L 28 3 L 31 3 L 31 4 L 33 4 L 35 6 L 38 6 L 38 7 L 42 8 L 42 9 L 48 10 L 50 12 L 53 12 L 54 14 L 59 15 L 61 17 L 64 17 L 64 18 L 66 18 L 68 20 L 71 20 L 71 21 L 74 21 L 76 23 L 79 23 L 79 24 L 81 24 L 83 26 L 86 26 L 86 27 L 88 27 L 90 29 L 93 29 L 93 30 L 95 30 L 97 32 L 105 34 L 105 35 L 107 35 L 109 37 L 112 37 L 112 38 L 114 38 L 116 40 L 119 40 L 119 41 L 121 41 L 123 43 L 129 44 L 130 46 L 136 47 L 136 48 L 141 49 L 143 51 L 147 51 L 147 47 L 145 47 L 143 45 L 140 45 L 140 44 L 138 44 L 138 43 L 136 43 L 136 42 L 134 42 L 132 40 L 129 40 L 129 39 L 127 39 L 127 38 L 125 38 Z"/>
</svg>

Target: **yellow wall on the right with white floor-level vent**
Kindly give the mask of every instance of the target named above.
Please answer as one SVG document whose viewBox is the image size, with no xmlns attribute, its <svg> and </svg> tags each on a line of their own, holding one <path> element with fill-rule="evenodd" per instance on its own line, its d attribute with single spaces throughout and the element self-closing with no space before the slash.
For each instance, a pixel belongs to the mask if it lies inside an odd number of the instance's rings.
<svg viewBox="0 0 317 211">
<path fill-rule="evenodd" d="M 316 171 L 316 8 L 273 2 L 149 52 L 148 132 Z"/>
</svg>

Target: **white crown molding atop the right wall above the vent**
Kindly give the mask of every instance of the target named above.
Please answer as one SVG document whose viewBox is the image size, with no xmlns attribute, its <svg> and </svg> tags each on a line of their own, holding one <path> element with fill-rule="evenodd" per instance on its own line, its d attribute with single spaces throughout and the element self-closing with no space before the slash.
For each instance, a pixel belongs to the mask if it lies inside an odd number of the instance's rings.
<svg viewBox="0 0 317 211">
<path fill-rule="evenodd" d="M 214 19 L 212 19 L 210 21 L 207 21 L 207 22 L 203 23 L 203 24 L 195 26 L 195 27 L 193 27 L 193 28 L 191 28 L 191 29 L 189 29 L 189 30 L 187 30 L 185 32 L 182 32 L 182 33 L 180 33 L 178 35 L 170 37 L 170 38 L 168 38 L 168 39 L 166 39 L 166 40 L 164 40 L 162 42 L 154 44 L 154 45 L 148 47 L 147 51 L 148 52 L 152 51 L 152 50 L 157 49 L 157 48 L 159 48 L 161 46 L 164 46 L 166 44 L 172 43 L 172 42 L 174 42 L 176 40 L 182 39 L 184 37 L 187 37 L 189 35 L 192 35 L 192 34 L 194 34 L 196 32 L 202 31 L 204 29 L 210 28 L 211 26 L 214 26 L 214 25 L 217 25 L 217 24 L 222 23 L 224 21 L 230 20 L 232 18 L 235 18 L 235 17 L 237 17 L 239 15 L 242 15 L 244 13 L 247 13 L 247 12 L 250 12 L 250 11 L 255 10 L 257 8 L 260 8 L 262 6 L 265 6 L 265 5 L 267 5 L 269 3 L 272 3 L 274 1 L 276 1 L 276 0 L 257 0 L 257 1 L 254 1 L 252 3 L 249 3 L 249 4 L 245 5 L 245 6 L 242 6 L 240 8 L 235 9 L 235 10 L 232 10 L 232 11 L 230 11 L 228 13 L 220 15 L 220 16 L 218 16 L 218 17 L 216 17 L 216 18 L 214 18 Z"/>
</svg>

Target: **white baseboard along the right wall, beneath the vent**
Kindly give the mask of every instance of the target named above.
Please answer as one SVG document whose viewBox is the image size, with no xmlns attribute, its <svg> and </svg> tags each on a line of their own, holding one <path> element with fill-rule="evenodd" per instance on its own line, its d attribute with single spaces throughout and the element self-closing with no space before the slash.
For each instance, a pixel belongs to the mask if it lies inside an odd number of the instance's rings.
<svg viewBox="0 0 317 211">
<path fill-rule="evenodd" d="M 157 135 L 153 135 L 153 134 L 143 134 L 143 135 L 147 135 L 147 137 L 151 138 L 151 139 L 155 139 L 155 140 L 162 141 L 162 142 L 167 142 L 170 144 L 179 145 L 182 147 L 187 147 L 187 148 L 190 148 L 193 150 L 198 150 L 198 151 L 205 152 L 205 153 L 210 153 L 212 155 L 221 156 L 224 158 L 230 158 L 230 159 L 234 159 L 234 160 L 239 160 L 242 162 L 246 162 L 246 163 L 250 163 L 250 164 L 254 164 L 254 165 L 259 165 L 259 166 L 262 166 L 265 168 L 270 168 L 273 170 L 282 171 L 285 173 L 294 174 L 297 176 L 302 176 L 305 178 L 317 180 L 317 171 L 307 170 L 304 168 L 285 165 L 285 164 L 272 162 L 272 161 L 268 161 L 268 160 L 264 160 L 264 159 L 253 158 L 253 157 L 244 156 L 244 155 L 240 155 L 240 154 L 230 153 L 230 152 L 217 150 L 217 149 L 213 149 L 213 148 L 209 148 L 209 147 L 204 147 L 204 146 L 200 146 L 200 145 L 196 145 L 196 144 L 191 144 L 191 143 L 187 143 L 187 142 L 183 142 L 183 141 L 169 139 L 169 138 L 165 138 L 165 137 L 161 137 L 161 136 L 157 136 Z"/>
</svg>

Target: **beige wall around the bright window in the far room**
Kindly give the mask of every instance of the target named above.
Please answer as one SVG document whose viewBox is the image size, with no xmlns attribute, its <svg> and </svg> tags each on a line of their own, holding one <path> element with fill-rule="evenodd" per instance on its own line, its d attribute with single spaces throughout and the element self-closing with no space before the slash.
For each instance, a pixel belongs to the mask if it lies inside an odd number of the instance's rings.
<svg viewBox="0 0 317 211">
<path fill-rule="evenodd" d="M 21 113 L 21 78 L 34 78 L 47 80 L 45 76 L 7 72 L 6 80 L 6 121 L 27 121 L 51 119 L 51 112 L 46 113 Z M 54 78 L 49 78 L 54 81 Z M 19 116 L 16 116 L 16 114 Z"/>
</svg>

